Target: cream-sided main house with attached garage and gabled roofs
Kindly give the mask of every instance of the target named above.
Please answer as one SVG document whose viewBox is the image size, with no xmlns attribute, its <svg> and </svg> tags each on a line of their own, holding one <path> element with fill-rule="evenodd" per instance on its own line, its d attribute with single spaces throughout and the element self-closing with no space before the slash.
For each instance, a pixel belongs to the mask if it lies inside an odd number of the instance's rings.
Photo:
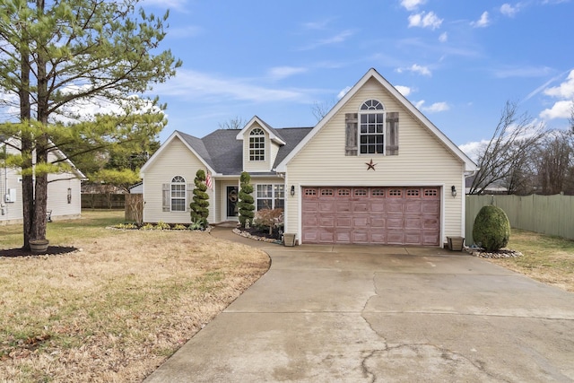
<svg viewBox="0 0 574 383">
<path fill-rule="evenodd" d="M 314 127 L 256 116 L 204 138 L 174 132 L 141 170 L 143 221 L 190 222 L 199 169 L 212 178 L 212 223 L 238 219 L 248 171 L 257 210 L 283 208 L 299 243 L 440 247 L 464 236 L 465 173 L 476 165 L 370 69 Z"/>
</svg>

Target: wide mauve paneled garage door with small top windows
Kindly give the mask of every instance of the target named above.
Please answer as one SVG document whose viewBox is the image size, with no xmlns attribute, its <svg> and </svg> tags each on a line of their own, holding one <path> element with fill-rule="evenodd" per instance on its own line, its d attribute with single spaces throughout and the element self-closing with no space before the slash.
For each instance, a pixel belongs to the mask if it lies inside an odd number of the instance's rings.
<svg viewBox="0 0 574 383">
<path fill-rule="evenodd" d="M 439 246 L 440 187 L 303 187 L 303 243 Z"/>
</svg>

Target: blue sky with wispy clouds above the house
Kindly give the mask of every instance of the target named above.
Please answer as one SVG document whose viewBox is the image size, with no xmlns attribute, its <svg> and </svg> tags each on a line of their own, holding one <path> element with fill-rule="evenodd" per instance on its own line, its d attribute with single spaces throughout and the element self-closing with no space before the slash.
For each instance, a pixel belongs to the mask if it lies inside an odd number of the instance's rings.
<svg viewBox="0 0 574 383">
<path fill-rule="evenodd" d="M 231 118 L 314 126 L 374 67 L 457 145 L 489 139 L 507 100 L 567 128 L 574 0 L 144 0 L 170 8 L 163 48 L 183 66 L 153 94 L 174 130 L 202 137 Z"/>
</svg>

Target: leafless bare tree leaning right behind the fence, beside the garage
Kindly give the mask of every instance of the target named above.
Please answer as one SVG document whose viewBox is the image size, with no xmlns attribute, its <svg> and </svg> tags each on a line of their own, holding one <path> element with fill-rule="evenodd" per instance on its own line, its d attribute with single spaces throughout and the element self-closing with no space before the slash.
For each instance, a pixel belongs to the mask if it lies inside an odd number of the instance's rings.
<svg viewBox="0 0 574 383">
<path fill-rule="evenodd" d="M 479 154 L 479 170 L 469 194 L 483 194 L 494 183 L 517 185 L 526 174 L 526 159 L 544 135 L 544 124 L 527 114 L 518 115 L 517 104 L 507 101 L 491 140 Z M 522 182 L 522 181 L 521 181 Z"/>
</svg>

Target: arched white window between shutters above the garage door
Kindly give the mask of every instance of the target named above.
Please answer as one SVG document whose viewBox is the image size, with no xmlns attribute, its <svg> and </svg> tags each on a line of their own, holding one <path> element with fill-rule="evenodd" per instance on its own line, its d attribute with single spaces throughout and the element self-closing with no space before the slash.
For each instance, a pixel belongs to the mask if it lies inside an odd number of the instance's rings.
<svg viewBox="0 0 574 383">
<path fill-rule="evenodd" d="M 359 152 L 385 153 L 385 107 L 378 100 L 367 100 L 359 111 Z"/>
</svg>

